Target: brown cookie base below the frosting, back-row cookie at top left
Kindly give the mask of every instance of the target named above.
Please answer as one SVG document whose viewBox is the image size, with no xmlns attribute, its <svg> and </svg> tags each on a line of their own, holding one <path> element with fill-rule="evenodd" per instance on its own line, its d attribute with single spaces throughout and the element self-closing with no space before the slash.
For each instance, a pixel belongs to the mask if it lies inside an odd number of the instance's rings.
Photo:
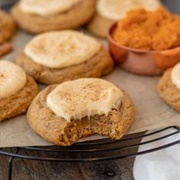
<svg viewBox="0 0 180 180">
<path fill-rule="evenodd" d="M 81 0 L 65 12 L 47 17 L 23 12 L 19 3 L 11 9 L 19 26 L 31 33 L 77 28 L 87 23 L 94 12 L 95 0 Z"/>
</svg>

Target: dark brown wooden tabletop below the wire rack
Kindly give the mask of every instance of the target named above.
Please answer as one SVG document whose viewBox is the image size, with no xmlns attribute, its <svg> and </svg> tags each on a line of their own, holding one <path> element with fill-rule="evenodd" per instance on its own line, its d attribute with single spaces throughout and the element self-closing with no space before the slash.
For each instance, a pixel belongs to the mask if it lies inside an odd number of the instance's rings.
<svg viewBox="0 0 180 180">
<path fill-rule="evenodd" d="M 25 152 L 29 154 L 28 151 Z M 35 152 L 35 155 L 40 155 Z M 9 157 L 0 155 L 0 180 L 7 180 Z M 102 162 L 13 160 L 12 180 L 133 180 L 134 158 Z"/>
</svg>

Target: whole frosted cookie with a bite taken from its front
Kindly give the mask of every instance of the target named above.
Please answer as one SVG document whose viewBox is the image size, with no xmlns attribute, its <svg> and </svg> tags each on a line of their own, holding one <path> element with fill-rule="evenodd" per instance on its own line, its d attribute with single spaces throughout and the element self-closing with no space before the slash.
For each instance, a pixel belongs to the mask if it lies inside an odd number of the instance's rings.
<svg viewBox="0 0 180 180">
<path fill-rule="evenodd" d="M 37 134 L 62 146 L 92 134 L 120 139 L 133 119 L 134 106 L 128 95 L 98 78 L 48 86 L 27 112 L 27 120 Z"/>
</svg>

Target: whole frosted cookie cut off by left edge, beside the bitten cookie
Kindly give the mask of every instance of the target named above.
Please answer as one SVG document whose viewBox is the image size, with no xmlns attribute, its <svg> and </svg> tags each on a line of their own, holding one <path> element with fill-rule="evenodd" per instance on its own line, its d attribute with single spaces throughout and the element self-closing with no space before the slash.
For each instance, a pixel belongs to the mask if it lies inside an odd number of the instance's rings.
<svg viewBox="0 0 180 180">
<path fill-rule="evenodd" d="M 0 121 L 24 113 L 39 88 L 24 70 L 9 61 L 0 61 Z"/>
</svg>

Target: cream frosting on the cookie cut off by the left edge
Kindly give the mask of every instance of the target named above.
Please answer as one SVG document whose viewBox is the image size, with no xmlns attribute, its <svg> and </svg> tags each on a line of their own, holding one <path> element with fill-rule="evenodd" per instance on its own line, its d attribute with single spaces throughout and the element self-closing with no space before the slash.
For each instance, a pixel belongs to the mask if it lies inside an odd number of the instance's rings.
<svg viewBox="0 0 180 180">
<path fill-rule="evenodd" d="M 0 61 L 0 99 L 18 92 L 26 84 L 24 70 L 9 61 Z"/>
</svg>

